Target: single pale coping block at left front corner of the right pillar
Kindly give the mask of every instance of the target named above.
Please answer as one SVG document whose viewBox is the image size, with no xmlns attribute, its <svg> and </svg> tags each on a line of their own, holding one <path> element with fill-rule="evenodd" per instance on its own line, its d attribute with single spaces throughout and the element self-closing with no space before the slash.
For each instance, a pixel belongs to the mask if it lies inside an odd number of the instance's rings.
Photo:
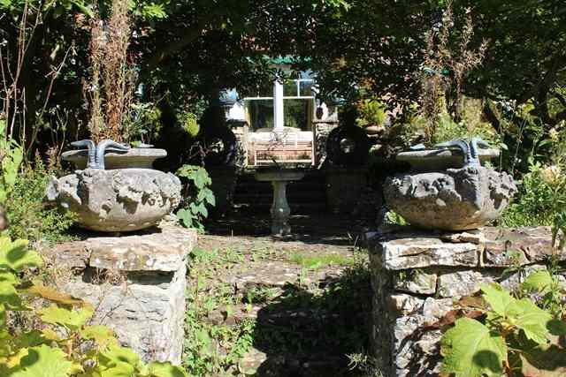
<svg viewBox="0 0 566 377">
<path fill-rule="evenodd" d="M 440 238 L 393 239 L 378 245 L 386 269 L 428 266 L 477 266 L 478 245 L 443 242 Z"/>
</svg>

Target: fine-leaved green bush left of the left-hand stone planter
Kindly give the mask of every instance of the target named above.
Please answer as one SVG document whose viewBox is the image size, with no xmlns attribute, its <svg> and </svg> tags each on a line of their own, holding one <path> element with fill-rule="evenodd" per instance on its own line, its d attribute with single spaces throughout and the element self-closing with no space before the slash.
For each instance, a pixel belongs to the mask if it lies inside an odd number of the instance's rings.
<svg viewBox="0 0 566 377">
<path fill-rule="evenodd" d="M 6 202 L 6 214 L 10 221 L 11 238 L 27 238 L 59 242 L 72 238 L 67 232 L 75 216 L 43 202 L 50 176 L 60 172 L 48 168 L 37 159 L 34 167 L 24 167 L 16 179 L 10 199 Z"/>
</svg>

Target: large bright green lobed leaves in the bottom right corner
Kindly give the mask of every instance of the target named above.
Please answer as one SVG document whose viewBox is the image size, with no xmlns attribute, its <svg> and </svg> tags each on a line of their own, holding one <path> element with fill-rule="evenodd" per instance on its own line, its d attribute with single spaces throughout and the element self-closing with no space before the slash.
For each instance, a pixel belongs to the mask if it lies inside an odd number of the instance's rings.
<svg viewBox="0 0 566 377">
<path fill-rule="evenodd" d="M 551 281 L 545 271 L 529 276 L 523 285 L 541 292 Z M 539 308 L 530 298 L 512 297 L 497 283 L 484 284 L 481 290 L 483 299 L 474 309 L 485 320 L 455 320 L 455 327 L 440 341 L 442 372 L 455 377 L 482 377 L 556 371 L 566 352 L 556 336 L 566 335 L 566 322 Z"/>
</svg>

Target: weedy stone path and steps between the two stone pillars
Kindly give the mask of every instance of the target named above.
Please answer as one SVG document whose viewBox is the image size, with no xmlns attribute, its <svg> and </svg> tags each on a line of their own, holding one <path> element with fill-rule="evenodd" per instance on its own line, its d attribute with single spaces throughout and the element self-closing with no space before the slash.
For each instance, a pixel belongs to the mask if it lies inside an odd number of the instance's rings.
<svg viewBox="0 0 566 377">
<path fill-rule="evenodd" d="M 294 236 L 272 238 L 268 216 L 226 218 L 200 236 L 188 288 L 189 316 L 191 304 L 196 312 L 188 327 L 219 335 L 210 366 L 259 376 L 359 375 L 347 355 L 360 358 L 367 347 L 371 287 L 358 235 L 371 221 L 294 215 Z M 188 352 L 198 352 L 192 344 Z"/>
</svg>

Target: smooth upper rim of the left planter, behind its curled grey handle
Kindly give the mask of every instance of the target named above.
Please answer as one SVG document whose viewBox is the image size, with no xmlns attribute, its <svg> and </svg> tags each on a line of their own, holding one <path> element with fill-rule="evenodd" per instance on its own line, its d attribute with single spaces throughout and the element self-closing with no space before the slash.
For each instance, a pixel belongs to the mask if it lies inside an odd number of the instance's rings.
<svg viewBox="0 0 566 377">
<path fill-rule="evenodd" d="M 106 149 L 108 152 L 104 155 L 104 163 L 106 170 L 114 169 L 152 169 L 153 162 L 167 155 L 164 149 L 157 148 L 131 148 L 126 152 L 112 149 Z M 88 150 L 72 150 L 63 153 L 61 158 L 64 161 L 73 162 L 78 170 L 87 167 Z"/>
</svg>

